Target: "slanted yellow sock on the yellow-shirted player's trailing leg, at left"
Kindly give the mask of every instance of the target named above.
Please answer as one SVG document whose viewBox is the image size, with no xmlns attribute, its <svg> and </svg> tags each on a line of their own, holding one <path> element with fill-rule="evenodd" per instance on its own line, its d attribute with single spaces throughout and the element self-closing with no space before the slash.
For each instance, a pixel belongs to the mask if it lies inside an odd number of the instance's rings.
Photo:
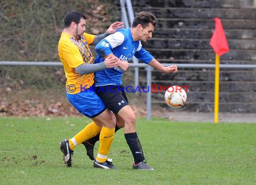
<svg viewBox="0 0 256 185">
<path fill-rule="evenodd" d="M 89 138 L 96 136 L 101 132 L 101 128 L 97 126 L 94 122 L 89 123 L 83 130 L 76 134 L 73 138 L 69 140 L 69 147 L 74 150 L 75 147 L 82 142 L 88 140 Z"/>
</svg>

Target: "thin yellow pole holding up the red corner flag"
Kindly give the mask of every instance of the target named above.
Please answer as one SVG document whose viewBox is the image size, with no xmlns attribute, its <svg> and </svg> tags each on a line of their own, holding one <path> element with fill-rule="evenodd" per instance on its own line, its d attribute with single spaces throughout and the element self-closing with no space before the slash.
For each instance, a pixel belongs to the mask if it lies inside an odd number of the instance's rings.
<svg viewBox="0 0 256 185">
<path fill-rule="evenodd" d="M 219 122 L 220 56 L 215 55 L 214 123 Z"/>
</svg>

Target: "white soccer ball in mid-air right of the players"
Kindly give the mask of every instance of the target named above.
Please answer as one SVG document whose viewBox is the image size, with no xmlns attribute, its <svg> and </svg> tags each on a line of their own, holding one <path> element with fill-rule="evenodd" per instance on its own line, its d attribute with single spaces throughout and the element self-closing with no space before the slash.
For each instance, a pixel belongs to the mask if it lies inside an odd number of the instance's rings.
<svg viewBox="0 0 256 185">
<path fill-rule="evenodd" d="M 187 100 L 187 94 L 181 86 L 171 86 L 164 94 L 164 101 L 169 107 L 182 107 Z"/>
</svg>

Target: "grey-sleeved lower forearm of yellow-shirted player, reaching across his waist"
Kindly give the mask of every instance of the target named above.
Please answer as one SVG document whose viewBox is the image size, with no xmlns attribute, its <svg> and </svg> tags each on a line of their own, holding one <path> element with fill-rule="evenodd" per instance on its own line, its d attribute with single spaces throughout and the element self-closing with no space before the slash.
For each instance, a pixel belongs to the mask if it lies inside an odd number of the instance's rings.
<svg viewBox="0 0 256 185">
<path fill-rule="evenodd" d="M 79 75 L 85 75 L 89 73 L 94 73 L 98 70 L 104 70 L 106 69 L 106 65 L 104 62 L 98 63 L 98 64 L 81 64 L 80 66 L 75 68 L 75 71 Z"/>
</svg>

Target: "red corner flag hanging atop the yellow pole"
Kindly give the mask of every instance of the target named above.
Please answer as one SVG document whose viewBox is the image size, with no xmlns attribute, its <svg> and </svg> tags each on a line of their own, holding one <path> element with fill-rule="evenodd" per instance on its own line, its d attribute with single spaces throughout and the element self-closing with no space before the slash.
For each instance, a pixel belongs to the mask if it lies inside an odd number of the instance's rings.
<svg viewBox="0 0 256 185">
<path fill-rule="evenodd" d="M 215 31 L 213 32 L 210 45 L 212 46 L 215 53 L 221 56 L 227 53 L 230 50 L 230 48 L 221 24 L 221 19 L 214 18 L 214 21 L 215 21 Z"/>
</svg>

